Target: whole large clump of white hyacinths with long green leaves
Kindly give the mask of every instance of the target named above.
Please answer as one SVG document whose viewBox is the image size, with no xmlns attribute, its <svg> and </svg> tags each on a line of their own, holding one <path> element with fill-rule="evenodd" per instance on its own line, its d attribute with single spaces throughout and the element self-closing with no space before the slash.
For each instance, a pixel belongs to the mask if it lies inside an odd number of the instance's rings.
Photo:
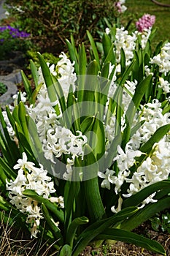
<svg viewBox="0 0 170 256">
<path fill-rule="evenodd" d="M 58 255 L 108 239 L 165 255 L 131 232 L 170 203 L 169 43 L 140 33 L 109 27 L 99 57 L 88 31 L 90 60 L 73 37 L 58 64 L 39 54 L 35 89 L 21 72 L 0 113 L 0 208 Z"/>
</svg>

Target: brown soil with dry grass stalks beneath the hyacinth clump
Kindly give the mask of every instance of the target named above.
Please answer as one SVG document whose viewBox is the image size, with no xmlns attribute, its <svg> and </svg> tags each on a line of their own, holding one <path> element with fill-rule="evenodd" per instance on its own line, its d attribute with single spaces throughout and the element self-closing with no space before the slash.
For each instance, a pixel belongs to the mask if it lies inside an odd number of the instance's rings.
<svg viewBox="0 0 170 256">
<path fill-rule="evenodd" d="M 150 222 L 144 222 L 140 225 L 135 233 L 141 234 L 147 238 L 151 238 L 158 241 L 166 249 L 166 256 L 170 256 L 170 234 L 169 233 L 158 233 L 152 230 Z M 1 256 L 53 256 L 56 255 L 57 251 L 50 248 L 50 246 L 43 244 L 41 239 L 30 239 L 28 232 L 18 231 L 11 227 L 4 227 L 1 224 L 0 227 L 0 255 Z M 42 244 L 41 244 L 42 243 Z M 38 254 L 37 254 L 38 249 Z M 7 252 L 9 252 L 7 254 Z M 133 244 L 125 244 L 118 241 L 116 244 L 104 244 L 98 249 L 93 246 L 86 246 L 80 256 L 160 256 L 154 252 L 149 252 L 147 249 L 134 246 Z"/>
</svg>

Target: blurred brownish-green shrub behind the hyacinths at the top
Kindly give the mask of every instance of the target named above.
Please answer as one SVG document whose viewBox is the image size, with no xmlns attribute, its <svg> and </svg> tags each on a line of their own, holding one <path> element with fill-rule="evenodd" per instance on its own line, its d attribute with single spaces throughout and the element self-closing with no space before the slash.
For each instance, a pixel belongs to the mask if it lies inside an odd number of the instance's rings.
<svg viewBox="0 0 170 256">
<path fill-rule="evenodd" d="M 104 18 L 115 21 L 114 1 L 11 1 L 8 11 L 16 18 L 17 26 L 31 33 L 33 42 L 42 51 L 60 53 L 65 39 L 72 33 L 76 45 L 85 42 L 88 29 L 93 37 L 98 30 L 104 30 Z M 56 47 L 57 45 L 57 47 Z"/>
</svg>

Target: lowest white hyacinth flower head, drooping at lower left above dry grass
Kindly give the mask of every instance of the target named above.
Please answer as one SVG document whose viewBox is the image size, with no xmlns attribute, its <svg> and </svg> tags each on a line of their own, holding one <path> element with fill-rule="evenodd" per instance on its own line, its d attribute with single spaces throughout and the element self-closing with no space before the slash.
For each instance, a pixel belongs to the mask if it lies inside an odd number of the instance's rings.
<svg viewBox="0 0 170 256">
<path fill-rule="evenodd" d="M 43 219 L 42 211 L 39 203 L 31 197 L 23 195 L 23 192 L 26 189 L 33 189 L 38 195 L 50 200 L 50 194 L 55 192 L 54 184 L 47 176 L 47 170 L 44 170 L 42 165 L 37 168 L 33 162 L 28 162 L 24 152 L 23 159 L 18 159 L 18 164 L 14 166 L 14 169 L 19 169 L 17 178 L 15 181 L 7 181 L 6 184 L 10 203 L 23 214 L 27 214 L 26 222 L 31 225 L 31 238 L 36 237 L 39 233 L 40 219 Z M 55 202 L 63 208 L 63 197 L 55 197 Z"/>
</svg>

